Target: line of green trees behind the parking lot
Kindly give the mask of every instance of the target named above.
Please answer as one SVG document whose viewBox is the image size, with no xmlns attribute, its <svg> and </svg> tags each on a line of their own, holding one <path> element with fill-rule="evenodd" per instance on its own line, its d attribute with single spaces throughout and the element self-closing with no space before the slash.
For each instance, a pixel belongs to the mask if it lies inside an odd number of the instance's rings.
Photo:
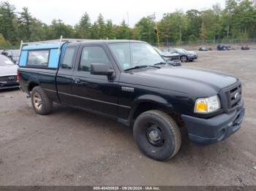
<svg viewBox="0 0 256 191">
<path fill-rule="evenodd" d="M 154 15 L 142 17 L 134 27 L 125 20 L 119 25 L 99 14 L 91 22 L 88 13 L 75 26 L 54 19 L 50 25 L 33 17 L 28 7 L 21 12 L 8 1 L 0 3 L 0 47 L 17 46 L 20 40 L 36 42 L 49 39 L 138 39 L 157 42 L 196 41 L 206 39 L 256 38 L 256 3 L 254 0 L 226 0 L 225 7 L 214 4 L 210 9 L 187 12 L 176 10 L 155 21 Z"/>
</svg>

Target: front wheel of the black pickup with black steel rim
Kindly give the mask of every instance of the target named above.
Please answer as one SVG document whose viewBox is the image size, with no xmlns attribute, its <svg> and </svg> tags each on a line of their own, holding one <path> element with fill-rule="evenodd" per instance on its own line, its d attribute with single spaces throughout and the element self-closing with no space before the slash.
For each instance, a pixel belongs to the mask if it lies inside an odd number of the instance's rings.
<svg viewBox="0 0 256 191">
<path fill-rule="evenodd" d="M 158 132 L 158 141 L 152 141 L 152 131 Z M 169 160 L 181 147 L 181 132 L 178 125 L 172 117 L 159 110 L 140 114 L 135 120 L 133 135 L 141 152 L 154 160 Z"/>
</svg>

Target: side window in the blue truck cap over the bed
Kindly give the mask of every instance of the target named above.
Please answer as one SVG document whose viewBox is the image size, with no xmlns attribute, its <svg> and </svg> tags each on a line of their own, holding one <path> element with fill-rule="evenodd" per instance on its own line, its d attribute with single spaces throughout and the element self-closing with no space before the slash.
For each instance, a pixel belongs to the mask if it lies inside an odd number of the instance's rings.
<svg viewBox="0 0 256 191">
<path fill-rule="evenodd" d="M 49 50 L 31 50 L 28 52 L 27 65 L 47 67 Z"/>
</svg>

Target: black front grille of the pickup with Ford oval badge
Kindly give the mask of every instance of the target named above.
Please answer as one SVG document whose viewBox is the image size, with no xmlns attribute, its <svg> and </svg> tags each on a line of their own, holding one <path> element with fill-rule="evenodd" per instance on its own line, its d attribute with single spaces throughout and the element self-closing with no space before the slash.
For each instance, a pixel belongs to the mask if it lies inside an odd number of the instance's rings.
<svg viewBox="0 0 256 191">
<path fill-rule="evenodd" d="M 231 110 L 236 108 L 239 101 L 241 101 L 241 93 L 241 83 L 233 85 L 229 90 L 227 90 L 227 109 Z"/>
</svg>

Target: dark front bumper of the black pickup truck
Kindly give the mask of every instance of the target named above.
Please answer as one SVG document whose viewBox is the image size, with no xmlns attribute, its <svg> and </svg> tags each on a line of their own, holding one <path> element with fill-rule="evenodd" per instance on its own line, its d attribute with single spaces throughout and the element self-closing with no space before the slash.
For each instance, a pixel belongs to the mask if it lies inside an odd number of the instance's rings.
<svg viewBox="0 0 256 191">
<path fill-rule="evenodd" d="M 229 114 L 219 114 L 210 119 L 181 115 L 189 133 L 190 141 L 197 144 L 214 144 L 227 139 L 241 128 L 244 118 L 244 101 L 241 106 Z"/>
</svg>

